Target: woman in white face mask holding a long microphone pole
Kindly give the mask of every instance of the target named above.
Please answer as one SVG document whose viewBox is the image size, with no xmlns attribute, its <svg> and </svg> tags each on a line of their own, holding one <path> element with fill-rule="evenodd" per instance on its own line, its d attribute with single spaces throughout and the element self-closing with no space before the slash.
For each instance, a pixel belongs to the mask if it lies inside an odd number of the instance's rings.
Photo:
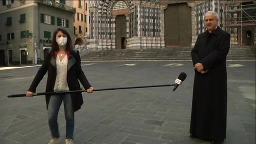
<svg viewBox="0 0 256 144">
<path fill-rule="evenodd" d="M 47 91 L 67 91 L 80 90 L 81 82 L 87 92 L 93 92 L 93 87 L 89 84 L 86 76 L 81 69 L 81 59 L 79 51 L 73 49 L 70 35 L 65 29 L 58 28 L 54 31 L 51 51 L 43 64 L 37 71 L 26 96 L 32 97 L 40 80 L 48 72 L 46 82 Z M 74 130 L 74 111 L 80 109 L 83 99 L 81 92 L 59 93 L 54 95 L 45 95 L 46 109 L 48 114 L 48 124 L 51 132 L 51 140 L 48 144 L 54 144 L 59 138 L 57 114 L 63 100 L 64 113 L 66 119 L 65 143 L 73 144 Z"/>
</svg>

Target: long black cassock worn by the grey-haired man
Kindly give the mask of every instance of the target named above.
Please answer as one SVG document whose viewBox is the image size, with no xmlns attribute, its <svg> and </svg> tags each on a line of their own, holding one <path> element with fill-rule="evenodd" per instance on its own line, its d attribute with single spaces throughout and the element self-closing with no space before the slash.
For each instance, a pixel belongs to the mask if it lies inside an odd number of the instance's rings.
<svg viewBox="0 0 256 144">
<path fill-rule="evenodd" d="M 203 64 L 207 73 L 194 70 L 190 133 L 210 140 L 226 137 L 226 55 L 230 34 L 217 27 L 198 35 L 191 51 L 193 65 Z"/>
</svg>

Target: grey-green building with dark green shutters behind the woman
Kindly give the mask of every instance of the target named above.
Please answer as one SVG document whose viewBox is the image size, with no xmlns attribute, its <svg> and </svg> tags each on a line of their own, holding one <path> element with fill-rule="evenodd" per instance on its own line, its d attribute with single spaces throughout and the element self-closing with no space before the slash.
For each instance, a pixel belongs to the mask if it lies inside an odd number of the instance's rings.
<svg viewBox="0 0 256 144">
<path fill-rule="evenodd" d="M 73 39 L 76 9 L 72 4 L 70 0 L 2 0 L 0 64 L 41 63 L 50 50 L 53 31 L 58 27 L 66 29 Z"/>
</svg>

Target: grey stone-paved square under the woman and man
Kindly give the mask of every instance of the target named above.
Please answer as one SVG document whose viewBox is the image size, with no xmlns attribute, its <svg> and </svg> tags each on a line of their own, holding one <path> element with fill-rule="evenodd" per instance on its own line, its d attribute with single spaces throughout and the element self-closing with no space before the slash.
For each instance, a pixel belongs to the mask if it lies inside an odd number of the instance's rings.
<svg viewBox="0 0 256 144">
<path fill-rule="evenodd" d="M 228 61 L 227 137 L 224 144 L 255 143 L 255 61 Z M 44 96 L 7 98 L 25 93 L 39 66 L 0 70 L 0 143 L 47 143 L 49 129 Z M 196 144 L 189 120 L 193 69 L 191 61 L 82 62 L 94 88 L 174 83 L 173 87 L 133 88 L 83 92 L 84 104 L 75 112 L 74 143 L 88 144 Z M 46 74 L 47 75 L 47 74 Z M 37 87 L 45 89 L 46 75 Z M 59 111 L 64 143 L 63 105 Z"/>
</svg>

